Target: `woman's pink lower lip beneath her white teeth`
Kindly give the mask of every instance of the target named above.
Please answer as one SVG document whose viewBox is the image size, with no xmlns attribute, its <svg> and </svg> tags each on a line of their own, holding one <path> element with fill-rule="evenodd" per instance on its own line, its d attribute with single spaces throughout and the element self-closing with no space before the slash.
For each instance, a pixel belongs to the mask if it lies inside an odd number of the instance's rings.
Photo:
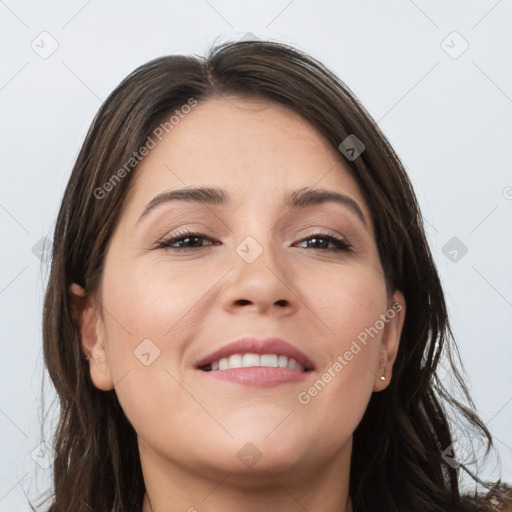
<svg viewBox="0 0 512 512">
<path fill-rule="evenodd" d="M 233 368 L 230 370 L 212 370 L 209 372 L 203 370 L 199 371 L 214 379 L 261 387 L 304 382 L 313 374 L 312 371 L 299 372 L 287 368 L 269 368 L 263 366 Z"/>
</svg>

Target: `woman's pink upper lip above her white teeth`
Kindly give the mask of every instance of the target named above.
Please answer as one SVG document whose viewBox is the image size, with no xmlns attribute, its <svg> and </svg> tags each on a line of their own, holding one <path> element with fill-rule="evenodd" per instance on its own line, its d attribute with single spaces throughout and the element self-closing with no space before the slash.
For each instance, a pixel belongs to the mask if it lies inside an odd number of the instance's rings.
<svg viewBox="0 0 512 512">
<path fill-rule="evenodd" d="M 304 354 L 297 347 L 282 338 L 255 338 L 252 336 L 244 336 L 235 341 L 224 345 L 220 349 L 212 352 L 211 354 L 203 357 L 198 361 L 196 368 L 201 368 L 214 361 L 219 361 L 224 357 L 232 356 L 233 354 L 277 354 L 283 355 L 288 358 L 293 358 L 305 369 L 313 370 L 313 362 L 309 357 Z"/>
</svg>

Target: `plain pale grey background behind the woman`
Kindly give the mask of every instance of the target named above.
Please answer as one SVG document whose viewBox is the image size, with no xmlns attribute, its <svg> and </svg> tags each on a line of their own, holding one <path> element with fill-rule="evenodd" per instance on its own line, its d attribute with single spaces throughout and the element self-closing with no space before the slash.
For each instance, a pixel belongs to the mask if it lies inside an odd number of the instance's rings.
<svg viewBox="0 0 512 512">
<path fill-rule="evenodd" d="M 503 478 L 512 481 L 510 0 L 0 0 L 0 17 L 1 511 L 29 510 L 25 495 L 49 485 L 51 452 L 37 450 L 47 264 L 33 247 L 52 236 L 93 115 L 147 60 L 204 54 L 214 41 L 247 32 L 291 43 L 331 67 L 402 158 L 468 384 L 495 435 Z M 459 247 L 446 246 L 452 237 Z M 45 396 L 49 403 L 49 386 Z M 498 470 L 491 464 L 484 476 Z"/>
</svg>

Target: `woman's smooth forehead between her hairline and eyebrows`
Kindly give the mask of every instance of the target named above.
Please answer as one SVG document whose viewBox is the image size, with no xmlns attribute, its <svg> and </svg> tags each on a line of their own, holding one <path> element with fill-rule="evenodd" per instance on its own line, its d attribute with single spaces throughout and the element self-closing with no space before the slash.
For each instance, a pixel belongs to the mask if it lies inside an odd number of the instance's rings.
<svg viewBox="0 0 512 512">
<path fill-rule="evenodd" d="M 224 188 L 240 206 L 304 187 L 338 190 L 369 218 L 340 153 L 298 113 L 264 99 L 212 98 L 183 115 L 139 164 L 131 202 L 143 210 L 163 190 L 197 185 Z"/>
</svg>

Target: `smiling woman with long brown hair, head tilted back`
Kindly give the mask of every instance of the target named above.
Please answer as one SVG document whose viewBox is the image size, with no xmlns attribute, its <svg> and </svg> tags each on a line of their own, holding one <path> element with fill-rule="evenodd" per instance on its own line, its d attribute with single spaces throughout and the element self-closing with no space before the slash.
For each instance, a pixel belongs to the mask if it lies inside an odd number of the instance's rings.
<svg viewBox="0 0 512 512">
<path fill-rule="evenodd" d="M 510 505 L 500 482 L 459 492 L 446 405 L 492 439 L 436 375 L 451 332 L 416 197 L 311 57 L 246 41 L 135 70 L 53 243 L 51 512 Z"/>
</svg>

